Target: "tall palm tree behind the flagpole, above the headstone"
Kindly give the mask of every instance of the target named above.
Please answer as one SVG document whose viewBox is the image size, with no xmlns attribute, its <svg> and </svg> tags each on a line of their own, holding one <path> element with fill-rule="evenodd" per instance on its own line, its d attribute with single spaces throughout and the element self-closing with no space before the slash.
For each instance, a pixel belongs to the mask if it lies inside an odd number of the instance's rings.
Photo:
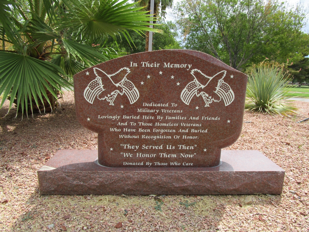
<svg viewBox="0 0 309 232">
<path fill-rule="evenodd" d="M 139 6 L 147 7 L 147 11 L 150 11 L 150 1 L 151 0 L 134 0 L 134 2 L 138 2 Z M 154 16 L 157 17 L 159 14 L 159 8 L 161 8 L 161 15 L 165 17 L 165 10 L 167 7 L 173 6 L 173 0 L 155 0 L 154 2 Z M 156 21 L 154 21 L 154 24 Z M 148 44 L 149 44 L 149 31 L 146 31 L 146 46 L 145 52 L 148 51 Z"/>
</svg>

